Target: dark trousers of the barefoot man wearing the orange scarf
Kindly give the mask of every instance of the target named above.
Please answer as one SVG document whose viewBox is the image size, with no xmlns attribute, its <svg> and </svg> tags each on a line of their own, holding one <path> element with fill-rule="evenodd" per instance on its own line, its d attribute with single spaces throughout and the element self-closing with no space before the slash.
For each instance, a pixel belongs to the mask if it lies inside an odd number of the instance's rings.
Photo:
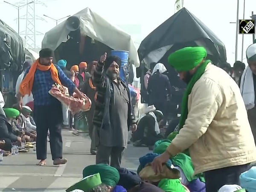
<svg viewBox="0 0 256 192">
<path fill-rule="evenodd" d="M 63 121 L 61 103 L 59 105 L 34 106 L 36 123 L 36 156 L 38 160 L 47 158 L 47 133 L 50 133 L 52 160 L 62 158 L 61 123 Z"/>
</svg>

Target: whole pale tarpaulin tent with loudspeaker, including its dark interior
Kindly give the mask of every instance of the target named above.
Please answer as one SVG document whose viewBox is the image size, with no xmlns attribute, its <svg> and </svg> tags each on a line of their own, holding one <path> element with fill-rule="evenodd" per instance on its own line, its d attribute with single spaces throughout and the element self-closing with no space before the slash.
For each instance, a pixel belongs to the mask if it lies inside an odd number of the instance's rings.
<svg viewBox="0 0 256 192">
<path fill-rule="evenodd" d="M 79 19 L 78 29 L 70 30 L 76 18 Z M 104 52 L 110 54 L 113 49 L 129 51 L 135 67 L 140 64 L 131 36 L 88 7 L 49 30 L 42 41 L 42 48 L 46 47 L 55 50 L 57 60 L 66 59 L 68 65 L 99 59 Z"/>
</svg>

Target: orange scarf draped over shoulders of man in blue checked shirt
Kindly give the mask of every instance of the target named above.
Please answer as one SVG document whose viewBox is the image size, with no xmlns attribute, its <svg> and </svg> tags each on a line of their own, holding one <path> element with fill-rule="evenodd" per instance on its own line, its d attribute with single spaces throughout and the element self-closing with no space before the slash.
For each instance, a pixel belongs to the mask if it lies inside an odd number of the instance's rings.
<svg viewBox="0 0 256 192">
<path fill-rule="evenodd" d="M 20 89 L 19 92 L 22 96 L 30 95 L 34 83 L 34 76 L 35 76 L 35 70 L 41 70 L 41 71 L 51 71 L 52 80 L 55 83 L 58 83 L 61 85 L 61 81 L 58 78 L 58 70 L 54 66 L 54 64 L 50 64 L 49 66 L 42 65 L 39 63 L 39 59 L 37 59 L 32 66 L 29 69 L 29 73 L 27 73 L 26 77 L 23 79 L 23 81 L 20 83 Z"/>
</svg>

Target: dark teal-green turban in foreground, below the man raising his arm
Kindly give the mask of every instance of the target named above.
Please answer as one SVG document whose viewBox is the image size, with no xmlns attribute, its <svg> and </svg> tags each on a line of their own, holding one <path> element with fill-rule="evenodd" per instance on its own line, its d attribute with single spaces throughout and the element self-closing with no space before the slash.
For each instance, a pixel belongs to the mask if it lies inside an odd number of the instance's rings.
<svg viewBox="0 0 256 192">
<path fill-rule="evenodd" d="M 116 186 L 120 178 L 118 170 L 106 164 L 85 167 L 83 170 L 83 178 L 96 173 L 99 173 L 102 183 L 108 186 Z"/>
</svg>

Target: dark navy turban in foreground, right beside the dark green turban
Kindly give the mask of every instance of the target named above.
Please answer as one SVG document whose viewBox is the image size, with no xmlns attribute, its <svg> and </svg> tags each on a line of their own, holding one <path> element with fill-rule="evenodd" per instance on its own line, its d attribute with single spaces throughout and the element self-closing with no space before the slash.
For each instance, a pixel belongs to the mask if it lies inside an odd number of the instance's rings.
<svg viewBox="0 0 256 192">
<path fill-rule="evenodd" d="M 130 172 L 128 169 L 118 168 L 117 170 L 120 175 L 117 185 L 123 186 L 126 190 L 129 190 L 142 182 L 139 175 L 134 172 Z"/>
</svg>

